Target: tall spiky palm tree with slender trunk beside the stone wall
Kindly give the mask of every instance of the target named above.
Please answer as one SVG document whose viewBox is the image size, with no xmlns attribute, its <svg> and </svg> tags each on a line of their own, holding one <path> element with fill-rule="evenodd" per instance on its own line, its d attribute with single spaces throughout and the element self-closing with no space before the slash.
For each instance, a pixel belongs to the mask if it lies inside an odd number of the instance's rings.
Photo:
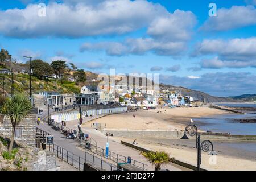
<svg viewBox="0 0 256 182">
<path fill-rule="evenodd" d="M 30 114 L 31 109 L 30 100 L 23 93 L 14 94 L 11 98 L 4 98 L 4 102 L 1 101 L 0 113 L 10 118 L 12 126 L 9 152 L 13 149 L 16 125 Z"/>
</svg>

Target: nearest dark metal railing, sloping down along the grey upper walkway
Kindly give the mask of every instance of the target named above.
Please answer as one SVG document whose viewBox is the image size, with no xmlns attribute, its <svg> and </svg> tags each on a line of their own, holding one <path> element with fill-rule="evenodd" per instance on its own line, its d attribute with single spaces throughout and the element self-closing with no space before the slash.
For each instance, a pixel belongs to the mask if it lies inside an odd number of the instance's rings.
<svg viewBox="0 0 256 182">
<path fill-rule="evenodd" d="M 119 170 L 117 166 L 110 164 L 97 156 L 89 154 L 85 151 L 85 158 L 82 158 L 79 155 L 73 154 L 72 152 L 66 150 L 63 147 L 58 146 L 57 144 L 53 144 L 49 147 L 49 151 L 55 152 L 55 155 L 64 160 L 71 166 L 79 169 L 80 171 L 84 171 L 84 163 L 89 166 L 97 169 L 98 171 L 116 171 Z"/>
</svg>

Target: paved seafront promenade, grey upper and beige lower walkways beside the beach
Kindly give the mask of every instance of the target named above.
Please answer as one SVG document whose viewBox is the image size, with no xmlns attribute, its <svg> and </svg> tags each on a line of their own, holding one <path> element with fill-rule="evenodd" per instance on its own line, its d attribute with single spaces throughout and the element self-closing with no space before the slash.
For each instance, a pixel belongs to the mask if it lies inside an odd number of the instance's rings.
<svg viewBox="0 0 256 182">
<path fill-rule="evenodd" d="M 99 118 L 99 117 L 104 117 L 104 115 L 95 115 L 93 117 L 85 117 L 83 123 L 88 122 L 92 119 Z M 78 125 L 78 121 L 67 122 L 67 127 L 69 127 L 70 129 L 73 129 L 73 130 L 78 130 L 77 125 Z M 76 140 L 66 139 L 63 134 L 53 130 L 51 126 L 49 126 L 47 123 L 44 123 L 44 122 L 40 123 L 38 128 L 53 135 L 54 136 L 53 141 L 55 144 L 59 145 L 60 147 L 65 148 L 65 150 L 68 150 L 69 152 L 72 152 L 73 154 L 75 154 L 77 156 L 80 156 L 81 158 L 85 158 L 85 152 L 84 152 L 84 150 L 82 150 L 80 147 L 77 146 L 78 142 Z M 104 134 L 102 134 L 100 131 L 97 131 L 92 128 L 85 128 L 85 127 L 82 127 L 82 131 L 84 133 L 89 134 L 90 137 L 95 139 L 97 141 L 98 147 L 105 148 L 107 137 Z M 137 160 L 138 162 L 147 164 L 148 165 L 147 170 L 154 170 L 154 166 L 152 166 L 149 162 L 147 162 L 147 160 L 143 156 L 139 155 L 138 150 L 124 146 L 123 144 L 119 143 L 118 141 L 112 140 L 111 137 L 108 138 L 108 142 L 109 142 L 109 151 L 112 151 L 119 155 L 123 155 L 123 156 L 127 156 L 127 157 L 130 156 L 131 159 L 133 159 L 133 160 Z M 110 162 L 109 160 L 107 160 L 107 161 Z M 117 165 L 116 163 L 113 163 L 113 162 L 110 162 L 110 163 L 114 164 L 115 166 Z M 170 171 L 181 171 L 181 170 L 187 171 L 187 170 L 189 170 L 187 168 L 178 166 L 176 164 L 170 164 L 168 166 L 163 166 L 162 169 L 168 169 Z"/>
</svg>

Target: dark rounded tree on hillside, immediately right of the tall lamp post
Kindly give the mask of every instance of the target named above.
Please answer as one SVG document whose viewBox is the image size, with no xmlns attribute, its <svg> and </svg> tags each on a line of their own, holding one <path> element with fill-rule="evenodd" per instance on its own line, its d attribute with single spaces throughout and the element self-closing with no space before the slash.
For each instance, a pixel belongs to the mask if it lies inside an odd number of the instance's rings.
<svg viewBox="0 0 256 182">
<path fill-rule="evenodd" d="M 46 63 L 40 59 L 31 61 L 31 68 L 33 71 L 33 75 L 38 77 L 40 80 L 44 78 L 44 76 L 52 76 L 53 69 L 49 63 Z"/>
</svg>

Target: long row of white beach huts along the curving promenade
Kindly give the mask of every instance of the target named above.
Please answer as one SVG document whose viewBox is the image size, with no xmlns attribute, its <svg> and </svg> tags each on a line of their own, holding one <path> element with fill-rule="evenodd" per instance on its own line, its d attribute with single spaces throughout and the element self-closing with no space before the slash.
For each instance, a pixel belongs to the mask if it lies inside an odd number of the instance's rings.
<svg viewBox="0 0 256 182">
<path fill-rule="evenodd" d="M 100 114 L 108 114 L 108 113 L 121 113 L 127 111 L 127 107 L 114 107 L 108 109 L 90 109 L 86 110 L 87 114 L 90 115 L 100 115 Z M 82 118 L 86 115 L 85 111 L 82 111 Z M 73 121 L 80 118 L 79 111 L 71 110 L 66 111 L 65 113 L 56 113 L 52 114 L 51 118 L 54 119 L 55 122 L 61 122 L 62 120 Z"/>
</svg>

